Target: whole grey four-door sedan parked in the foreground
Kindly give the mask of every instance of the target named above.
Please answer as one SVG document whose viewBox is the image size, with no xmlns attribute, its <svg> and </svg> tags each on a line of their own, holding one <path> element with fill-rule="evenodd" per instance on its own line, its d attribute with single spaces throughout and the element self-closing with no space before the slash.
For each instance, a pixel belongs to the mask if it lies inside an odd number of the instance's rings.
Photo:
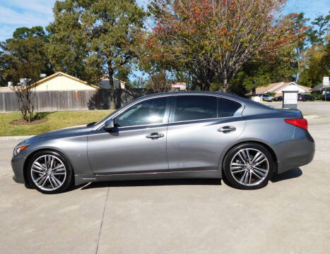
<svg viewBox="0 0 330 254">
<path fill-rule="evenodd" d="M 311 162 L 314 149 L 297 109 L 170 92 L 135 99 L 98 123 L 23 140 L 11 165 L 15 181 L 42 193 L 95 181 L 223 177 L 256 189 Z"/>
</svg>

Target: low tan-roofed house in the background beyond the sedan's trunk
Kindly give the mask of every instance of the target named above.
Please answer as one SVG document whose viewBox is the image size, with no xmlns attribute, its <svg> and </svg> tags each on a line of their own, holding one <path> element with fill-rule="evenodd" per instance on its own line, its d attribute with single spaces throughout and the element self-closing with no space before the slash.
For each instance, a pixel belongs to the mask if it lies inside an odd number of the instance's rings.
<svg viewBox="0 0 330 254">
<path fill-rule="evenodd" d="M 267 92 L 274 93 L 275 96 L 283 95 L 283 91 L 298 91 L 299 93 L 312 92 L 310 87 L 305 87 L 303 85 L 298 85 L 295 82 L 279 82 L 271 83 L 264 87 L 256 88 L 256 95 L 262 95 Z M 247 95 L 252 95 L 252 92 L 249 92 Z"/>
</svg>

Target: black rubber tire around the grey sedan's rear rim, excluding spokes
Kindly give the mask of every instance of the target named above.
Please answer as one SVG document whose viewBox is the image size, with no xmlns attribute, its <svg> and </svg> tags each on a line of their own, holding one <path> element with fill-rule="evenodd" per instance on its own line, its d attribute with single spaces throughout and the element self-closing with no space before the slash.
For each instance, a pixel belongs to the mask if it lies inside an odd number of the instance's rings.
<svg viewBox="0 0 330 254">
<path fill-rule="evenodd" d="M 269 165 L 268 172 L 267 172 L 266 176 L 263 177 L 264 179 L 258 184 L 255 184 L 252 186 L 244 185 L 234 178 L 233 174 L 235 174 L 235 172 L 232 173 L 230 170 L 231 169 L 230 164 L 232 163 L 232 159 L 242 149 L 258 150 L 259 152 L 262 152 L 264 154 L 264 156 L 266 157 L 266 159 L 268 160 L 268 165 Z M 266 162 L 264 162 L 264 163 L 266 163 Z M 223 159 L 223 173 L 225 174 L 225 178 L 228 180 L 228 182 L 230 183 L 230 185 L 232 187 L 242 189 L 242 190 L 256 190 L 259 188 L 263 188 L 264 186 L 266 186 L 268 184 L 269 179 L 271 179 L 271 177 L 273 176 L 273 171 L 275 168 L 276 168 L 276 164 L 275 164 L 273 157 L 271 156 L 271 153 L 269 152 L 269 150 L 266 147 L 264 147 L 263 145 L 259 145 L 258 143 L 243 143 L 243 144 L 237 145 L 237 146 L 233 147 L 227 153 L 227 155 L 225 155 L 225 158 Z M 244 169 L 244 167 L 242 167 L 242 169 Z M 238 174 L 240 174 L 240 173 L 238 173 Z M 244 174 L 244 171 L 242 172 L 242 174 Z M 249 174 L 254 176 L 252 173 L 249 173 Z M 235 174 L 235 176 L 237 176 L 237 174 Z"/>
</svg>

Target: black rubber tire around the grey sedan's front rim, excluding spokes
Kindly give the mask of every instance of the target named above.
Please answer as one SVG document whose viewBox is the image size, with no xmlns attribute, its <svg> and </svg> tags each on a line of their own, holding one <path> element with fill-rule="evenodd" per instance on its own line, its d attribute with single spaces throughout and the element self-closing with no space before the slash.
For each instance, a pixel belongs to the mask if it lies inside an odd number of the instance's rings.
<svg viewBox="0 0 330 254">
<path fill-rule="evenodd" d="M 38 158 L 43 157 L 45 155 L 51 155 L 53 157 L 57 157 L 58 159 L 60 159 L 60 161 L 64 164 L 64 167 L 65 167 L 64 170 L 65 170 L 66 174 L 64 176 L 64 181 L 63 181 L 63 183 L 61 183 L 61 186 L 59 186 L 58 188 L 56 188 L 54 190 L 42 189 L 42 188 L 40 188 L 40 186 L 37 186 L 37 184 L 33 181 L 33 176 L 32 176 L 32 173 L 31 173 L 33 163 Z M 62 171 L 63 171 L 63 168 L 62 168 Z M 33 174 L 35 174 L 35 172 Z M 54 151 L 51 151 L 51 150 L 45 150 L 45 151 L 37 152 L 35 155 L 33 155 L 33 157 L 31 157 L 31 159 L 28 162 L 27 176 L 28 176 L 28 181 L 30 183 L 30 186 L 35 188 L 37 191 L 40 191 L 41 193 L 45 193 L 45 194 L 62 193 L 64 191 L 66 191 L 66 189 L 69 188 L 69 186 L 71 186 L 71 184 L 73 183 L 73 169 L 72 169 L 72 166 L 71 166 L 69 160 L 66 159 L 66 157 L 64 155 L 61 155 L 61 153 L 54 152 Z M 49 181 L 49 184 L 50 184 L 50 180 L 48 180 L 48 181 Z"/>
</svg>

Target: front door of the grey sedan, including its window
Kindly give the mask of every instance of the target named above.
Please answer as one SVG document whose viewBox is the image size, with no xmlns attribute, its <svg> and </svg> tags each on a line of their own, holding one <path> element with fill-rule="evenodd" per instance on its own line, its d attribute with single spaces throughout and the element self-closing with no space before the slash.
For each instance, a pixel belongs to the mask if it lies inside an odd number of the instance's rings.
<svg viewBox="0 0 330 254">
<path fill-rule="evenodd" d="M 94 174 L 143 174 L 168 169 L 166 155 L 169 97 L 145 99 L 114 116 L 116 128 L 88 135 Z"/>
</svg>

